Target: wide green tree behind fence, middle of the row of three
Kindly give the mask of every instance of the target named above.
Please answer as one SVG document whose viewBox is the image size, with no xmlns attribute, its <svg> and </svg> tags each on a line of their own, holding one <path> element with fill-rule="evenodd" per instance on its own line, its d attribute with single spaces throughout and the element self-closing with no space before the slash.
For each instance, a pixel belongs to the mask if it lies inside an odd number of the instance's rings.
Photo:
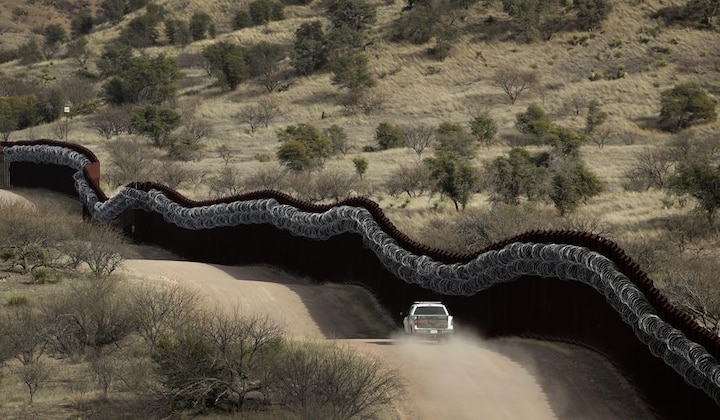
<svg viewBox="0 0 720 420">
<path fill-rule="evenodd" d="M 506 204 L 519 204 L 520 197 L 530 201 L 541 200 L 547 195 L 549 155 L 532 155 L 523 148 L 513 148 L 507 157 L 492 161 L 493 200 Z"/>
</svg>

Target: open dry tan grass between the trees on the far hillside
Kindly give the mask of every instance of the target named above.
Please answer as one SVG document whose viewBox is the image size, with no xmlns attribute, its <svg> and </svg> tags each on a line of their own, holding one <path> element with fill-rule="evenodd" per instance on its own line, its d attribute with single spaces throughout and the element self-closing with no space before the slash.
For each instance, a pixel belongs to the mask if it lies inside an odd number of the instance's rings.
<svg viewBox="0 0 720 420">
<path fill-rule="evenodd" d="M 418 162 L 418 157 L 405 148 L 363 151 L 364 147 L 376 145 L 375 128 L 380 122 L 427 126 L 437 126 L 442 122 L 467 124 L 473 116 L 487 112 L 498 123 L 498 142 L 482 148 L 472 161 L 473 166 L 481 171 L 487 162 L 516 145 L 515 116 L 529 104 L 541 104 L 554 123 L 582 129 L 585 123 L 582 104 L 595 99 L 608 113 L 605 123 L 607 141 L 602 148 L 593 143 L 584 145 L 581 155 L 590 170 L 598 175 L 604 192 L 581 206 L 572 218 L 558 219 L 549 204 L 534 203 L 523 211 L 539 212 L 539 216 L 527 219 L 543 220 L 541 227 L 589 228 L 629 244 L 663 235 L 671 216 L 689 211 L 689 206 L 678 207 L 665 191 L 650 189 L 638 192 L 623 188 L 625 172 L 636 164 L 638 153 L 660 147 L 675 138 L 675 135 L 656 128 L 662 91 L 679 82 L 695 81 L 713 98 L 720 94 L 720 68 L 717 66 L 720 51 L 714 47 L 720 41 L 720 34 L 692 25 L 670 25 L 662 18 L 654 17 L 659 12 L 681 7 L 684 1 L 612 1 L 612 12 L 600 30 L 565 29 L 554 33 L 548 40 L 530 43 L 514 36 L 511 18 L 499 4 L 486 7 L 479 2 L 467 10 L 463 9 L 457 16 L 453 25 L 459 31 L 459 38 L 450 56 L 442 61 L 427 54 L 432 42 L 415 45 L 388 40 L 393 22 L 406 13 L 402 11 L 404 2 L 370 1 L 377 7 L 377 22 L 369 29 L 370 41 L 364 52 L 375 76 L 373 92 L 381 98 L 383 106 L 381 111 L 369 115 L 347 112 L 343 105 L 344 93 L 332 83 L 329 72 L 292 77 L 287 82 L 287 89 L 273 93 L 265 92 L 252 81 L 241 83 L 234 91 L 227 92 L 215 86 L 215 79 L 208 76 L 200 64 L 203 49 L 218 41 L 244 46 L 265 41 L 290 48 L 294 33 L 302 23 L 320 18 L 327 25 L 320 2 L 305 6 L 288 5 L 284 20 L 236 31 L 231 30 L 232 17 L 249 2 L 162 0 L 154 3 L 163 7 L 165 21 L 188 19 L 196 12 L 208 13 L 217 31 L 214 39 L 192 42 L 184 48 L 167 45 L 160 31 L 158 45 L 135 52 L 149 57 L 165 54 L 176 58 L 183 78 L 178 82 L 179 91 L 173 106 L 181 110 L 186 118 L 212 127 L 212 132 L 202 140 L 204 147 L 201 154 L 182 163 L 183 167 L 192 169 L 191 175 L 187 175 L 179 186 L 180 191 L 189 197 L 207 198 L 208 184 L 221 176 L 223 168 L 233 168 L 233 176 L 242 179 L 277 172 L 274 168 L 278 168 L 275 159 L 278 129 L 298 123 L 310 123 L 322 129 L 337 124 L 347 133 L 351 148 L 347 155 L 329 159 L 325 163 L 326 170 L 338 171 L 349 177 L 354 173 L 353 158 L 364 157 L 369 163 L 367 172 L 362 182 L 352 189 L 381 203 L 388 215 L 411 236 L 441 244 L 445 241 L 434 236 L 433 221 L 456 220 L 463 215 L 457 214 L 452 203 L 438 194 L 426 193 L 420 197 L 388 194 L 385 181 L 397 176 L 395 173 L 401 165 Z M 5 19 L 2 22 L 6 40 L 3 47 L 21 45 L 24 39 L 39 37 L 32 32 L 39 32 L 39 28 L 48 22 L 59 22 L 69 27 L 73 14 L 63 11 L 63 7 L 64 10 L 85 7 L 91 13 L 99 13 L 101 2 L 54 4 L 54 7 L 43 7 L 40 2 L 28 2 L 27 5 L 16 6 L 12 1 L 0 1 Z M 27 10 L 26 17 L 8 21 L 8 16 L 12 16 L 12 11 L 18 7 Z M 90 73 L 96 72 L 95 60 L 105 46 L 144 10 L 126 15 L 117 25 L 100 22 L 94 26 L 87 36 L 91 51 L 87 62 Z M 289 58 L 283 63 L 288 66 Z M 510 103 L 493 82 L 493 74 L 506 68 L 535 71 L 540 76 L 540 82 L 533 89 L 523 92 L 517 102 Z M 62 52 L 52 59 L 29 66 L 20 65 L 17 60 L 0 65 L 4 77 L 61 88 L 71 86 L 67 80 L 73 78 L 79 69 L 78 63 Z M 591 80 L 593 75 L 599 74 L 620 77 Z M 91 82 L 95 92 L 99 92 L 103 81 L 91 79 Z M 247 124 L 240 122 L 238 114 L 266 98 L 273 98 L 280 105 L 282 116 L 268 127 L 260 126 L 257 131 L 251 132 Z M 107 149 L 109 141 L 91 128 L 91 119 L 92 116 L 69 119 L 68 140 L 92 148 L 104 163 L 103 172 L 109 174 L 113 171 Z M 57 126 L 62 123 L 61 119 L 58 123 L 16 131 L 11 133 L 10 140 L 58 137 L 61 131 Z M 717 135 L 719 129 L 720 124 L 716 122 L 685 130 L 681 135 L 711 138 Z M 126 134 L 120 137 L 123 136 L 133 137 Z M 229 163 L 216 151 L 220 146 L 229 148 Z M 165 152 L 145 146 L 144 140 L 138 147 L 145 148 L 146 156 L 161 162 L 168 161 Z M 430 152 L 426 152 L 423 157 L 429 155 Z M 161 174 L 138 176 L 156 176 L 160 181 L 164 180 Z M 110 182 L 107 188 L 112 192 L 115 185 Z M 480 211 L 477 217 L 483 217 L 486 214 L 483 212 L 491 207 L 488 197 L 487 192 L 473 194 L 464 214 Z M 532 223 L 523 221 L 514 229 L 532 228 Z"/>
</svg>

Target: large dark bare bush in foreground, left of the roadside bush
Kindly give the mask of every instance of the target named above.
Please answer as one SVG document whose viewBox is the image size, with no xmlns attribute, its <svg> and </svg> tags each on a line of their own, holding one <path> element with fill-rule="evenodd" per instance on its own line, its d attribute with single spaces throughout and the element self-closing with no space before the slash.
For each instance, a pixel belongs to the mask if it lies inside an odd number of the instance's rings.
<svg viewBox="0 0 720 420">
<path fill-rule="evenodd" d="M 242 409 L 247 394 L 266 387 L 267 360 L 282 329 L 267 317 L 205 314 L 158 343 L 160 396 L 180 404 Z"/>
</svg>

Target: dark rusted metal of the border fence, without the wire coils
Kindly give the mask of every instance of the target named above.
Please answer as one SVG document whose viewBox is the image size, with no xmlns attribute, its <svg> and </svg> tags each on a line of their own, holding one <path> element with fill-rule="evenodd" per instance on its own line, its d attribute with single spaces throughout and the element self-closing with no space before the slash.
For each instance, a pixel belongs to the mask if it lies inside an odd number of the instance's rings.
<svg viewBox="0 0 720 420">
<path fill-rule="evenodd" d="M 43 144 L 65 145 L 52 141 Z M 83 175 L 100 200 L 107 200 L 99 187 L 97 158 L 87 149 L 77 145 L 72 147 L 90 160 L 91 163 L 83 168 Z M 9 172 L 12 186 L 46 188 L 65 194 L 72 194 L 75 189 L 75 170 L 58 165 L 13 162 L 9 165 Z M 308 212 L 323 212 L 332 207 L 302 202 L 275 191 L 255 191 L 198 202 L 163 185 L 133 183 L 132 186 L 139 190 L 162 191 L 173 202 L 185 207 L 261 198 L 273 198 Z M 532 231 L 476 253 L 449 253 L 411 240 L 387 219 L 377 203 L 369 199 L 353 198 L 340 204 L 367 209 L 383 231 L 402 248 L 446 263 L 468 262 L 487 250 L 500 249 L 514 242 L 570 244 L 596 251 L 616 264 L 619 271 L 645 294 L 662 319 L 720 359 L 720 338 L 674 307 L 641 268 L 612 241 L 585 232 Z M 686 383 L 670 366 L 652 355 L 607 304 L 605 297 L 581 283 L 526 276 L 473 296 L 439 296 L 399 280 L 357 235 L 342 234 L 316 241 L 293 236 L 268 224 L 188 230 L 168 223 L 158 213 L 138 209 L 125 210 L 116 223 L 139 243 L 159 245 L 194 261 L 229 265 L 271 264 L 316 281 L 360 284 L 368 288 L 390 313 L 404 310 L 414 300 L 442 299 L 452 308 L 462 326 L 486 337 L 521 335 L 562 340 L 607 355 L 655 407 L 659 417 L 720 416 L 719 407 L 711 398 Z"/>
</svg>

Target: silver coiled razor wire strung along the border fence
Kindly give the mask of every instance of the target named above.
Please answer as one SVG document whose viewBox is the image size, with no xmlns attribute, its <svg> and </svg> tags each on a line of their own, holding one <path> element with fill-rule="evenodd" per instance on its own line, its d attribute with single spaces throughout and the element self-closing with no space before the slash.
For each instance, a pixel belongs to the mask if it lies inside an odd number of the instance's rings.
<svg viewBox="0 0 720 420">
<path fill-rule="evenodd" d="M 103 223 L 114 220 L 126 209 L 141 209 L 159 213 L 167 222 L 190 230 L 270 224 L 313 240 L 354 233 L 363 238 L 365 245 L 395 276 L 444 295 L 471 296 L 522 276 L 585 283 L 605 296 L 653 355 L 720 404 L 720 365 L 715 358 L 663 321 L 642 291 L 618 271 L 611 260 L 587 248 L 516 242 L 478 255 L 468 263 L 445 264 L 400 247 L 362 207 L 337 206 L 323 213 L 312 213 L 280 204 L 275 199 L 259 199 L 188 208 L 161 191 L 130 187 L 121 188 L 101 202 L 83 174 L 82 168 L 90 163 L 83 155 L 47 145 L 9 146 L 3 152 L 7 162 L 53 163 L 77 169 L 74 180 L 78 196 L 93 218 Z"/>
</svg>

